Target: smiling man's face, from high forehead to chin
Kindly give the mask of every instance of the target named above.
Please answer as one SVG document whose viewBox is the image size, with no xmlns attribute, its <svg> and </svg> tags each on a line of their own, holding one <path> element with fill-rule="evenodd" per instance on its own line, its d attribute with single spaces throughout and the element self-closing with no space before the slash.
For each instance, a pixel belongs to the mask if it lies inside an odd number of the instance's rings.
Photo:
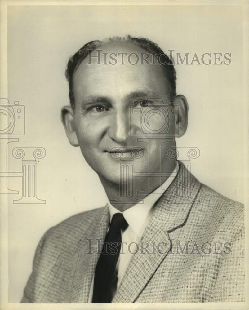
<svg viewBox="0 0 249 310">
<path fill-rule="evenodd" d="M 142 108 L 153 107 L 147 125 L 157 130 L 163 127 L 160 109 L 157 106 L 163 100 L 167 105 L 167 85 L 160 65 L 129 64 L 124 60 L 123 65 L 104 64 L 103 53 L 140 53 L 145 51 L 134 47 L 119 46 L 117 43 L 100 47 L 101 64 L 88 58 L 83 60 L 74 75 L 74 130 L 78 144 L 88 164 L 95 170 L 100 178 L 107 179 L 115 184 L 120 182 L 120 158 L 115 158 L 114 148 L 123 151 L 122 160 L 132 159 L 134 149 L 141 151 L 142 157 L 135 158 L 136 172 L 159 172 L 167 170 L 167 163 L 171 165 L 166 156 L 166 149 L 175 145 L 173 135 L 171 142 L 162 135 L 148 135 L 141 127 L 141 113 L 131 115 L 131 105 L 136 104 Z M 97 55 L 93 51 L 91 55 Z M 108 63 L 107 56 L 107 63 Z M 135 59 L 136 60 L 136 59 Z M 131 58 L 134 63 L 134 58 Z M 150 61 L 151 62 L 151 61 Z M 143 107 L 150 99 L 149 106 Z M 159 126 L 159 127 L 158 127 Z M 174 132 L 174 124 L 167 131 Z M 150 137 L 150 139 L 148 139 Z M 154 138 L 153 138 L 154 137 Z M 156 139 L 158 137 L 159 139 Z M 138 141 L 140 138 L 140 141 Z M 151 139 L 153 138 L 153 139 Z M 160 160 L 160 156 L 162 156 Z"/>
</svg>

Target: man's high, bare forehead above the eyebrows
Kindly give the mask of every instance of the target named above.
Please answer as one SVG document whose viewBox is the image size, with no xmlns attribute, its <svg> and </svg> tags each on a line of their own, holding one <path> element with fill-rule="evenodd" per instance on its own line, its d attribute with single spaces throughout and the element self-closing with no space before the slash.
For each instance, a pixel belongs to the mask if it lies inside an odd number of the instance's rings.
<svg viewBox="0 0 249 310">
<path fill-rule="evenodd" d="M 147 56 L 149 64 L 143 60 Z M 160 94 L 166 92 L 163 67 L 153 64 L 153 56 L 144 49 L 127 42 L 112 42 L 98 47 L 74 73 L 76 102 L 89 95 L 125 97 L 141 89 Z"/>
</svg>

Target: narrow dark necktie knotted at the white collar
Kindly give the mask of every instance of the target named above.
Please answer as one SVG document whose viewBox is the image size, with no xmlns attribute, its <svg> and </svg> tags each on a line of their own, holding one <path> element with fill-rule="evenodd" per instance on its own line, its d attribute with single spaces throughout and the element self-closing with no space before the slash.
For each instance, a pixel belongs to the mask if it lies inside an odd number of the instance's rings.
<svg viewBox="0 0 249 310">
<path fill-rule="evenodd" d="M 115 213 L 96 265 L 92 303 L 110 303 L 113 298 L 113 289 L 117 285 L 115 269 L 121 248 L 121 229 L 127 227 L 123 214 Z"/>
</svg>

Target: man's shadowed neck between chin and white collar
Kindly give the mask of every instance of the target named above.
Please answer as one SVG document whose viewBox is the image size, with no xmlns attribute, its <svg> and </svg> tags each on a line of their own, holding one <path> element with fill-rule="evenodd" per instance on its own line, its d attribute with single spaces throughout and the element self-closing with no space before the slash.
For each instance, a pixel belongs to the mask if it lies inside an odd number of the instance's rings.
<svg viewBox="0 0 249 310">
<path fill-rule="evenodd" d="M 172 161 L 170 165 L 167 166 L 167 173 L 172 173 L 175 166 L 176 161 Z M 99 178 L 110 203 L 120 212 L 123 212 L 136 205 L 140 200 L 143 200 L 155 189 L 160 187 L 168 179 L 168 176 L 147 176 L 134 178 L 133 180 L 128 179 L 125 184 L 113 183 L 100 175 Z M 134 182 L 134 184 L 132 182 Z M 134 185 L 133 188 L 131 186 L 132 184 Z M 124 192 L 123 195 L 121 194 L 122 190 Z M 138 191 L 145 191 L 145 193 L 137 194 Z"/>
</svg>

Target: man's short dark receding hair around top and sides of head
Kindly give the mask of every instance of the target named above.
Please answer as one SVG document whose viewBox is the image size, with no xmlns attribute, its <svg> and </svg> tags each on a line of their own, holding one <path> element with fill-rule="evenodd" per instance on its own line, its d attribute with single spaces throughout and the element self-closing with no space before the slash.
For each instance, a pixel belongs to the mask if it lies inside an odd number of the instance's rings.
<svg viewBox="0 0 249 310">
<path fill-rule="evenodd" d="M 73 56 L 69 58 L 65 75 L 69 82 L 69 100 L 70 100 L 70 104 L 72 108 L 74 108 L 74 105 L 75 105 L 75 98 L 73 94 L 73 76 L 78 66 L 88 56 L 89 50 L 94 51 L 100 45 L 107 43 L 107 42 L 121 42 L 121 41 L 130 42 L 133 45 L 141 47 L 148 53 L 153 53 L 154 55 L 160 54 L 160 61 L 164 67 L 164 75 L 167 78 L 167 81 L 169 83 L 169 89 L 168 89 L 169 99 L 174 100 L 176 96 L 176 70 L 174 68 L 174 61 L 171 55 L 168 56 L 167 54 L 165 54 L 156 43 L 150 41 L 149 39 L 142 38 L 142 37 L 135 38 L 130 35 L 127 35 L 126 37 L 123 37 L 123 38 L 112 37 L 112 38 L 107 38 L 103 41 L 100 41 L 100 40 L 90 41 L 86 43 L 83 47 L 81 47 L 78 50 L 78 52 L 76 52 Z"/>
</svg>

